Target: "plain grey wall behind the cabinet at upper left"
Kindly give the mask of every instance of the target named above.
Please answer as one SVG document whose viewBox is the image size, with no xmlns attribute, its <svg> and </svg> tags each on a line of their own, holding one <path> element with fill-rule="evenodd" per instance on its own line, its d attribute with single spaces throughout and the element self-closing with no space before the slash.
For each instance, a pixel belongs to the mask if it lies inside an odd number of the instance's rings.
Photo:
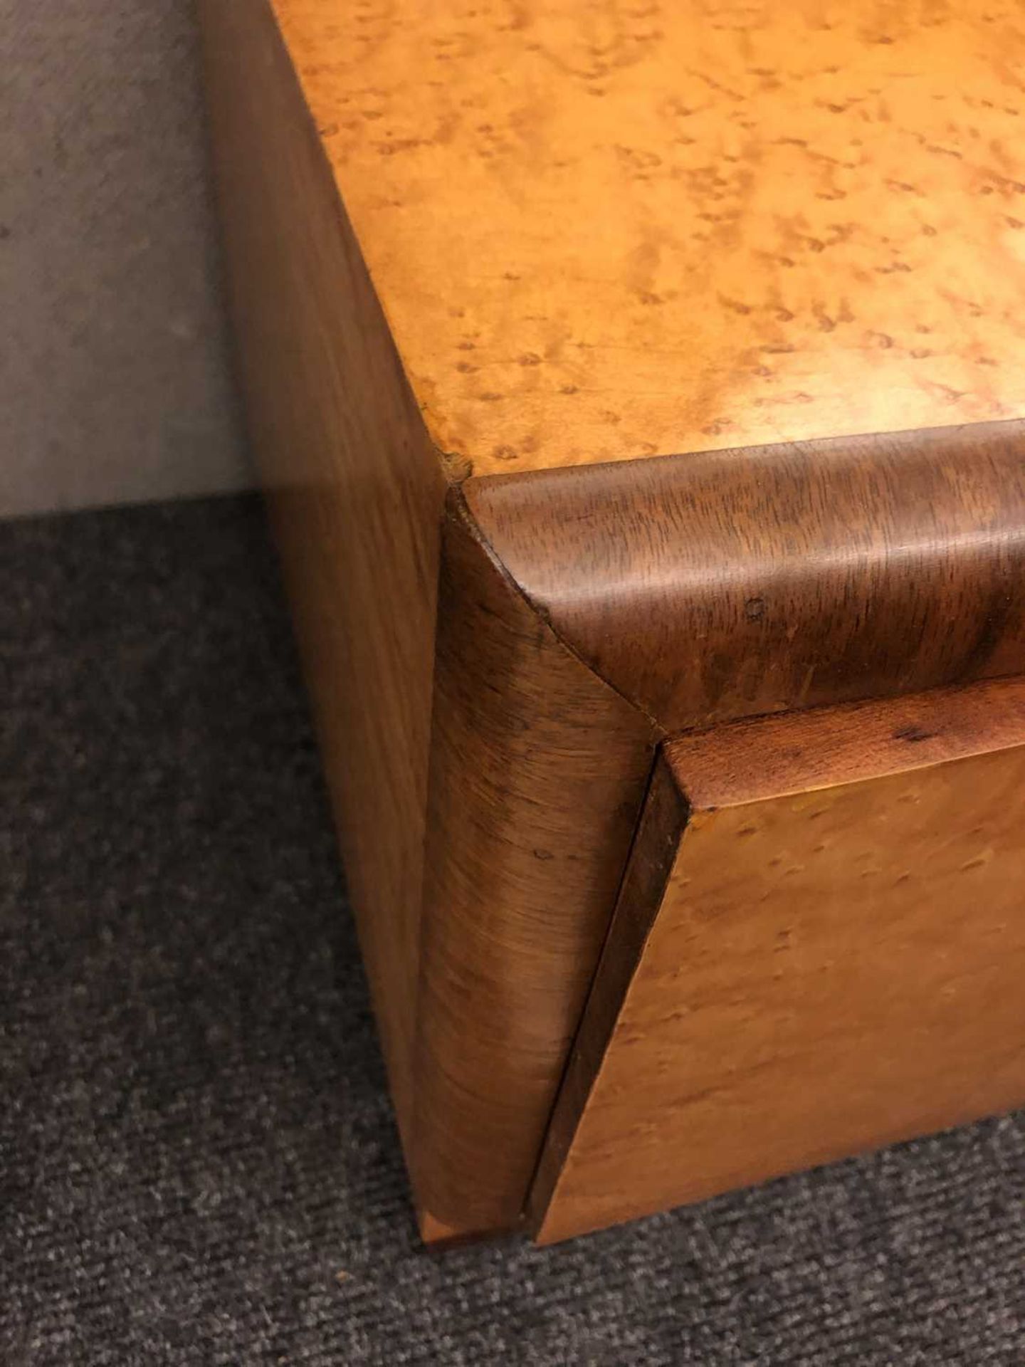
<svg viewBox="0 0 1025 1367">
<path fill-rule="evenodd" d="M 0 517 L 247 483 L 190 0 L 0 0 Z"/>
</svg>

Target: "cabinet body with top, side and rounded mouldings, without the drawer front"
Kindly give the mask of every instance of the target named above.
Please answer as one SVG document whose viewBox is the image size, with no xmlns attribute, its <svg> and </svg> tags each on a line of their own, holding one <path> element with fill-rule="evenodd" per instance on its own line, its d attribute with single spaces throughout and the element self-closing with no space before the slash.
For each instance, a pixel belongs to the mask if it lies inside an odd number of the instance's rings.
<svg viewBox="0 0 1025 1367">
<path fill-rule="evenodd" d="M 664 742 L 1025 673 L 1025 19 L 200 10 L 421 1229 L 519 1228 Z"/>
</svg>

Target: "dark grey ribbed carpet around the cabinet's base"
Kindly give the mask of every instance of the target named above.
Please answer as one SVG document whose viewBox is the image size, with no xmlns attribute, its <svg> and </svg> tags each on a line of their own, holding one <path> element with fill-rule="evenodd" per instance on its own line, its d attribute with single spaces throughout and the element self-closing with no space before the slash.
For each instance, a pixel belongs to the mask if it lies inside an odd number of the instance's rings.
<svg viewBox="0 0 1025 1367">
<path fill-rule="evenodd" d="M 0 525 L 0 1363 L 1025 1362 L 1025 1117 L 417 1245 L 251 498 Z"/>
</svg>

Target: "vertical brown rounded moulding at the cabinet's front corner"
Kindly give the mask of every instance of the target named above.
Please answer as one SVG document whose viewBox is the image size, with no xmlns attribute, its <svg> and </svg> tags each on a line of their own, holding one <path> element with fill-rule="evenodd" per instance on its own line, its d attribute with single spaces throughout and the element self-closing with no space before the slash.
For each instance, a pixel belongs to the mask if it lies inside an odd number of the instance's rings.
<svg viewBox="0 0 1025 1367">
<path fill-rule="evenodd" d="M 655 734 L 446 522 L 413 1174 L 424 1223 L 519 1222 Z"/>
</svg>

